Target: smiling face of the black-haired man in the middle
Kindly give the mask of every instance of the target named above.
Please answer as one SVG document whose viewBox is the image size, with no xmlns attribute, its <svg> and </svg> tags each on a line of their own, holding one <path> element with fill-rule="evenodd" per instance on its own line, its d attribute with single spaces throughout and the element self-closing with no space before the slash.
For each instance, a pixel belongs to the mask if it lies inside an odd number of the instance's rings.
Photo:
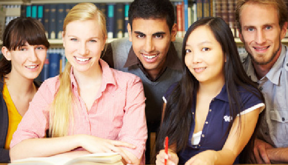
<svg viewBox="0 0 288 165">
<path fill-rule="evenodd" d="M 175 27 L 170 33 L 166 19 L 134 19 L 132 29 L 128 25 L 133 50 L 148 73 L 162 70 Z"/>
</svg>

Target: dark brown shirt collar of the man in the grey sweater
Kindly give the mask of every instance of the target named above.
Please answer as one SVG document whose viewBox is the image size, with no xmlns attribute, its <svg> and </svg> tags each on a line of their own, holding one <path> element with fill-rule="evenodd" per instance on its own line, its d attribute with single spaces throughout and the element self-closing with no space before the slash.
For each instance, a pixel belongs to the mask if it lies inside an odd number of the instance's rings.
<svg viewBox="0 0 288 165">
<path fill-rule="evenodd" d="M 133 47 L 133 46 L 132 46 Z M 133 65 L 141 65 L 140 60 L 137 58 L 133 48 L 130 48 L 126 63 L 124 64 L 124 68 L 129 68 Z M 181 70 L 181 61 L 178 58 L 177 51 L 173 42 L 171 42 L 170 47 L 167 52 L 166 61 L 164 67 L 168 67 L 174 70 Z M 143 68 L 142 68 L 143 69 Z"/>
</svg>

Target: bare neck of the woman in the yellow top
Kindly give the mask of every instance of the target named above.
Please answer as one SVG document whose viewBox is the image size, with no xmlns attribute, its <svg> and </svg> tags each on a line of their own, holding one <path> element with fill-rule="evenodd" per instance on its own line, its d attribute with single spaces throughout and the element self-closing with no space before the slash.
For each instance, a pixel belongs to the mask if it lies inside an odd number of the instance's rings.
<svg viewBox="0 0 288 165">
<path fill-rule="evenodd" d="M 5 79 L 5 83 L 7 85 L 7 88 L 9 90 L 9 93 L 11 94 L 30 94 L 36 92 L 36 87 L 33 83 L 33 79 L 28 79 L 22 76 L 19 76 L 18 74 L 13 74 L 11 71 L 7 75 Z M 21 82 L 21 83 L 19 83 Z"/>
</svg>

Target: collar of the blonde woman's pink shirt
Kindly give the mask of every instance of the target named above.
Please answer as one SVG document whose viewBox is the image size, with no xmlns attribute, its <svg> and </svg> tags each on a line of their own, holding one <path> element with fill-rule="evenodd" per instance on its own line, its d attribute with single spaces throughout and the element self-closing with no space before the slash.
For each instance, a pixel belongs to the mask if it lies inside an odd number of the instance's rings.
<svg viewBox="0 0 288 165">
<path fill-rule="evenodd" d="M 107 87 L 108 84 L 112 84 L 115 86 L 116 80 L 113 75 L 112 69 L 109 68 L 108 64 L 102 59 L 99 59 L 99 63 L 102 68 L 102 85 L 100 89 L 103 92 L 105 91 L 105 88 Z M 78 88 L 76 78 L 74 76 L 73 67 L 71 67 L 71 70 L 70 70 L 70 80 L 71 80 L 72 88 Z"/>
</svg>

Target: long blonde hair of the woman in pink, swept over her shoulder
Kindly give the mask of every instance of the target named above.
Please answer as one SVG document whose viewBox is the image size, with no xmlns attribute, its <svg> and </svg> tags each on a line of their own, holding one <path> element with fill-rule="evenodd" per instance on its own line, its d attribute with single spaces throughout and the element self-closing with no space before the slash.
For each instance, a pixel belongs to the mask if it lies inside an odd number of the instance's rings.
<svg viewBox="0 0 288 165">
<path fill-rule="evenodd" d="M 63 24 L 65 36 L 67 24 L 73 21 L 97 20 L 102 27 L 103 39 L 107 38 L 104 14 L 93 3 L 79 3 L 67 14 Z M 65 69 L 59 75 L 59 89 L 50 108 L 50 137 L 62 137 L 68 134 L 69 123 L 73 121 L 74 96 L 70 81 L 71 64 L 67 61 Z M 71 120 L 70 120 L 71 119 Z"/>
</svg>

